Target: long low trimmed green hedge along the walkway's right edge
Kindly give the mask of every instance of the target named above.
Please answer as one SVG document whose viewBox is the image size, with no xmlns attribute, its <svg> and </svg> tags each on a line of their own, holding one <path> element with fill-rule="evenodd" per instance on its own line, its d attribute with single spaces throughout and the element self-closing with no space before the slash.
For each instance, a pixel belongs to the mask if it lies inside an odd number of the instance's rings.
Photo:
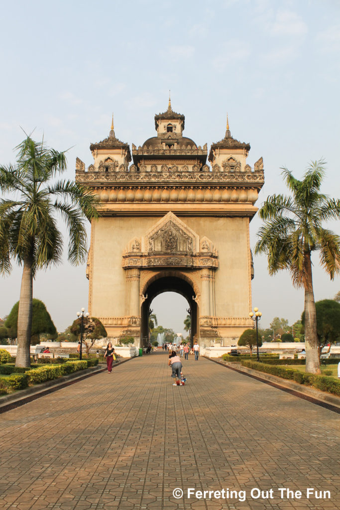
<svg viewBox="0 0 340 510">
<path fill-rule="evenodd" d="M 286 360 L 283 360 L 286 361 Z M 300 360 L 299 360 L 300 361 Z M 291 379 L 299 384 L 313 386 L 318 390 L 327 391 L 334 395 L 340 396 L 340 381 L 329 377 L 327 375 L 315 375 L 308 372 L 300 372 L 299 370 L 293 370 L 292 368 L 285 368 L 267 363 L 257 363 L 255 361 L 244 360 L 241 362 L 244 367 L 258 370 L 259 372 L 265 372 L 267 374 L 276 375 L 283 379 Z"/>
</svg>

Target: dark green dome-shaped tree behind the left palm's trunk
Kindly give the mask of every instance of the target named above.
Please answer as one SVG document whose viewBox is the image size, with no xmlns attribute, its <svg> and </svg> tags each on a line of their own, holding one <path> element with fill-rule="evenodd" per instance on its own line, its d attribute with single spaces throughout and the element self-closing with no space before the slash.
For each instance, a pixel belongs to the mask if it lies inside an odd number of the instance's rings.
<svg viewBox="0 0 340 510">
<path fill-rule="evenodd" d="M 6 327 L 11 330 L 11 335 L 14 335 L 14 338 L 17 337 L 18 311 L 19 301 L 15 303 L 5 322 Z M 31 344 L 40 342 L 41 333 L 49 333 L 51 336 L 56 337 L 57 329 L 46 310 L 45 304 L 40 299 L 33 299 Z"/>
</svg>

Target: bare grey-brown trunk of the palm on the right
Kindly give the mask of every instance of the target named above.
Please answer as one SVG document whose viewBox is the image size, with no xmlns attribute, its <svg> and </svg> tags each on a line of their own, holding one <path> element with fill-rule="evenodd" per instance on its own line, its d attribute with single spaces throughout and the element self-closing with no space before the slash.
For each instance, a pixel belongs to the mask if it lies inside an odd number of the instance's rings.
<svg viewBox="0 0 340 510">
<path fill-rule="evenodd" d="M 318 352 L 317 314 L 313 292 L 310 253 L 305 256 L 305 346 L 306 346 L 306 372 L 320 374 Z"/>
</svg>

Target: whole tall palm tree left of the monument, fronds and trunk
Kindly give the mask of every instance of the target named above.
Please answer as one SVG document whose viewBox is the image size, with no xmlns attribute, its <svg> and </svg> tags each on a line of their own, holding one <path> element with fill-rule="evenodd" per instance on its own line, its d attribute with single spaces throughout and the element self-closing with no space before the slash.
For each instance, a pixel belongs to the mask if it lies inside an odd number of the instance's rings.
<svg viewBox="0 0 340 510">
<path fill-rule="evenodd" d="M 66 170 L 65 152 L 47 148 L 28 136 L 16 147 L 16 165 L 0 166 L 0 189 L 9 194 L 0 200 L 0 273 L 10 273 L 15 260 L 22 265 L 18 313 L 16 366 L 30 366 L 33 278 L 38 269 L 61 262 L 63 240 L 58 213 L 68 233 L 68 260 L 86 260 L 86 218 L 98 217 L 97 199 L 72 181 L 56 181 Z"/>
</svg>

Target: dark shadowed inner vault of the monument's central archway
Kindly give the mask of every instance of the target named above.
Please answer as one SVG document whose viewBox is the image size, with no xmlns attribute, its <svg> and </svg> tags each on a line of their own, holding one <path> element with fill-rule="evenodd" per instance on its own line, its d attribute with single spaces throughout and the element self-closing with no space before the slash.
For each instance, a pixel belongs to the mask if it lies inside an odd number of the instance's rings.
<svg viewBox="0 0 340 510">
<path fill-rule="evenodd" d="M 198 330 L 198 307 L 194 300 L 195 291 L 189 278 L 185 278 L 183 275 L 178 276 L 171 272 L 161 272 L 154 275 L 143 289 L 143 295 L 146 296 L 145 301 L 141 307 L 141 347 L 146 347 L 150 342 L 150 328 L 149 328 L 149 317 L 152 314 L 153 300 L 164 294 L 164 293 L 175 293 L 185 298 L 187 307 L 185 308 L 184 318 L 186 314 L 190 315 L 191 328 L 188 332 L 190 338 L 190 344 L 193 345 L 194 339 L 197 339 Z M 168 310 L 170 315 L 172 312 L 171 307 Z M 184 320 L 184 319 L 183 319 Z M 182 326 L 182 329 L 184 325 Z M 175 331 L 177 333 L 177 331 Z"/>
</svg>

